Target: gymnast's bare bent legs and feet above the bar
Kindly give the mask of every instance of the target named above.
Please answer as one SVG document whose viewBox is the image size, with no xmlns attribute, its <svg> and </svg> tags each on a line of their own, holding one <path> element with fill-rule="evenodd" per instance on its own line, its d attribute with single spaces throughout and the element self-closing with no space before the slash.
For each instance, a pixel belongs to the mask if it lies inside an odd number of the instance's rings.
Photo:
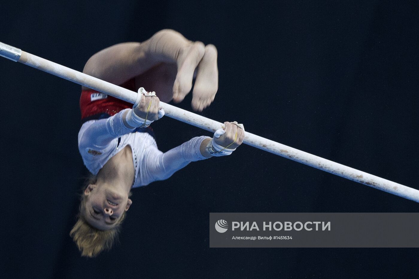
<svg viewBox="0 0 419 279">
<path fill-rule="evenodd" d="M 217 49 L 163 29 L 142 42 L 110 46 L 94 54 L 84 73 L 114 84 L 135 78 L 136 88 L 155 91 L 163 102 L 179 103 L 192 91 L 192 108 L 202 111 L 218 90 Z"/>
</svg>

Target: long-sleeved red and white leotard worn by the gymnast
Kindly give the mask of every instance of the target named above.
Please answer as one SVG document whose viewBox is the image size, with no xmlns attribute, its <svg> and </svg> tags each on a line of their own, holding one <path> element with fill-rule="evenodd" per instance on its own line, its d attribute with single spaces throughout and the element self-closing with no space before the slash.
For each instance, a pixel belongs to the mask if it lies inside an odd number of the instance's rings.
<svg viewBox="0 0 419 279">
<path fill-rule="evenodd" d="M 122 86 L 135 90 L 133 80 Z M 84 123 L 78 135 L 78 146 L 85 166 L 93 175 L 127 145 L 131 147 L 135 168 L 132 187 L 167 179 L 190 162 L 207 159 L 200 152 L 202 141 L 209 138 L 204 136 L 194 137 L 165 153 L 158 150 L 152 132 L 129 129 L 123 123 L 122 115 L 131 106 L 95 90 L 82 91 L 80 110 Z"/>
</svg>

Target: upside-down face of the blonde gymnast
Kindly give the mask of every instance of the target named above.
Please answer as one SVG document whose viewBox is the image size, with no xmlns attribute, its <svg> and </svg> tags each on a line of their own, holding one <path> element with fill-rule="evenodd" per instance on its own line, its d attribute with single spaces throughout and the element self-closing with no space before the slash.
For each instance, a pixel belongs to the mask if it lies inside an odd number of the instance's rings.
<svg viewBox="0 0 419 279">
<path fill-rule="evenodd" d="M 89 185 L 85 192 L 85 208 L 81 214 L 93 227 L 109 230 L 115 227 L 124 211 L 132 204 L 128 194 L 119 193 L 106 186 Z"/>
</svg>

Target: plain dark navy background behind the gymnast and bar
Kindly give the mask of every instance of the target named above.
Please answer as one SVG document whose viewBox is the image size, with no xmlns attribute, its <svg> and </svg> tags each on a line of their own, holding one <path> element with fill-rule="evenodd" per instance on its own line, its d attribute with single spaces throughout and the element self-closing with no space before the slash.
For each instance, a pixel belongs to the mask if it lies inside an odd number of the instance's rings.
<svg viewBox="0 0 419 279">
<path fill-rule="evenodd" d="M 417 1 L 7 2 L 0 41 L 81 71 L 107 46 L 173 28 L 218 48 L 220 86 L 204 116 L 417 188 L 418 8 Z M 81 258 L 68 235 L 87 174 L 77 148 L 80 86 L 1 58 L 0 90 L 2 278 L 419 275 L 413 248 L 210 249 L 209 212 L 418 210 L 249 146 L 134 189 L 119 244 Z M 190 97 L 182 108 L 191 109 Z M 210 135 L 168 117 L 153 127 L 163 151 Z"/>
</svg>

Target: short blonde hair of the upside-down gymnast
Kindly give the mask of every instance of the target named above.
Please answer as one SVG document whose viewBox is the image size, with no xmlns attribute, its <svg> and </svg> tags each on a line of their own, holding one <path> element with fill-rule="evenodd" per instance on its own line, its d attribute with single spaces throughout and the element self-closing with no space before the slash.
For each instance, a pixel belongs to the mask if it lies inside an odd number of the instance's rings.
<svg viewBox="0 0 419 279">
<path fill-rule="evenodd" d="M 91 176 L 88 178 L 86 185 L 83 187 L 83 193 L 87 186 L 89 186 L 89 184 L 96 183 L 96 180 L 96 176 Z M 110 230 L 99 230 L 96 227 L 91 226 L 86 221 L 83 214 L 81 214 L 81 212 L 83 212 L 85 209 L 87 199 L 87 196 L 84 194 L 81 195 L 79 213 L 77 216 L 78 219 L 70 231 L 70 237 L 72 237 L 73 241 L 76 243 L 82 256 L 93 258 L 103 250 L 111 249 L 114 241 L 118 238 L 120 225 L 125 219 L 125 212 L 122 214 L 121 218 L 119 218 L 115 227 Z"/>
</svg>

